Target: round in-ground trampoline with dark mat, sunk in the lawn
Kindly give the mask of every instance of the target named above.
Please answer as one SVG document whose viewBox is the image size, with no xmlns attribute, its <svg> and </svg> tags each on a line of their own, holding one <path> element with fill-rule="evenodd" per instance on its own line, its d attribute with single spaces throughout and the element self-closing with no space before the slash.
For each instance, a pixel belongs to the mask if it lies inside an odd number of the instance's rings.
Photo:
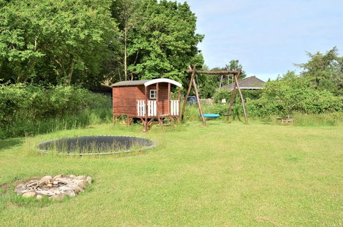
<svg viewBox="0 0 343 227">
<path fill-rule="evenodd" d="M 102 155 L 143 151 L 156 146 L 155 140 L 134 136 L 81 136 L 41 142 L 38 151 L 65 155 Z"/>
</svg>

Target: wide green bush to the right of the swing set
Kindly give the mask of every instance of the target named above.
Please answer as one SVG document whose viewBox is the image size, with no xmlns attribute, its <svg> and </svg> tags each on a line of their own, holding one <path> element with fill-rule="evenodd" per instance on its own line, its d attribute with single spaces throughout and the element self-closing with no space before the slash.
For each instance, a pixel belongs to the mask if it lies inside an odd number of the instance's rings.
<svg viewBox="0 0 343 227">
<path fill-rule="evenodd" d="M 297 77 L 268 82 L 261 98 L 247 100 L 246 105 L 247 113 L 258 117 L 343 111 L 342 98 L 314 89 L 310 80 Z"/>
</svg>

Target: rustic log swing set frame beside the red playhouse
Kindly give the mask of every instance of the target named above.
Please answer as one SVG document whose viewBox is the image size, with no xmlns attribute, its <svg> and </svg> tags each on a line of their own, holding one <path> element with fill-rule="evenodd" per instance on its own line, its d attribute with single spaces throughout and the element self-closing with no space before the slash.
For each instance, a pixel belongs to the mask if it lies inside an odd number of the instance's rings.
<svg viewBox="0 0 343 227">
<path fill-rule="evenodd" d="M 234 89 L 232 89 L 232 93 L 231 93 L 231 100 L 230 100 L 230 104 L 229 104 L 229 109 L 228 109 L 228 115 L 227 115 L 227 120 L 229 120 L 229 117 L 231 115 L 231 109 L 232 109 L 232 105 L 234 103 L 234 95 L 236 94 L 236 90 L 239 91 L 239 96 L 241 96 L 241 101 L 242 101 L 242 108 L 243 108 L 243 114 L 244 114 L 244 119 L 245 122 L 247 122 L 247 113 L 245 111 L 245 104 L 244 104 L 244 99 L 243 99 L 243 94 L 241 91 L 241 88 L 239 87 L 239 75 L 241 75 L 241 70 L 240 71 L 218 71 L 218 72 L 209 72 L 209 71 L 198 71 L 197 70 L 197 65 L 194 65 L 194 67 L 190 67 L 190 65 L 188 65 L 188 73 L 191 74 L 190 76 L 190 83 L 188 86 L 188 90 L 187 90 L 187 94 L 185 96 L 185 100 L 184 100 L 184 105 L 182 107 L 182 112 L 181 112 L 181 120 L 184 120 L 184 114 L 185 114 L 185 107 L 186 107 L 186 102 L 187 102 L 187 98 L 190 94 L 190 89 L 192 88 L 192 86 L 195 89 L 195 96 L 197 97 L 197 105 L 199 107 L 199 112 L 201 115 L 201 120 L 203 121 L 203 125 L 206 126 L 206 120 L 203 117 L 203 110 L 201 108 L 201 103 L 199 100 L 199 93 L 198 93 L 198 89 L 197 89 L 197 83 L 195 83 L 195 74 L 215 74 L 215 75 L 222 75 L 222 74 L 232 74 L 234 77 Z"/>
</svg>

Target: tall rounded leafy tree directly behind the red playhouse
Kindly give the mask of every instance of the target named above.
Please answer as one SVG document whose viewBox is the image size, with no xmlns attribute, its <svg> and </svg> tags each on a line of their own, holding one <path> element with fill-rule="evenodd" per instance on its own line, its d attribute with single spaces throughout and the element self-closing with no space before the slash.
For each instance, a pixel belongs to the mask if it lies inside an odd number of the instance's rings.
<svg viewBox="0 0 343 227">
<path fill-rule="evenodd" d="M 186 82 L 188 65 L 203 64 L 195 34 L 196 17 L 187 3 L 142 0 L 128 31 L 128 73 L 131 79 L 166 77 Z"/>
</svg>

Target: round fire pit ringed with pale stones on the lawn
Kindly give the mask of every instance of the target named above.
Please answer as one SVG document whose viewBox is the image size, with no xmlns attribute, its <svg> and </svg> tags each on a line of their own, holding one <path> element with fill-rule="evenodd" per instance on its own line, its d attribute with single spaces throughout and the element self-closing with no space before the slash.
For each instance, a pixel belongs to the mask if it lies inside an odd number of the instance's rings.
<svg viewBox="0 0 343 227">
<path fill-rule="evenodd" d="M 65 196 L 74 197 L 91 184 L 91 177 L 85 175 L 56 175 L 42 177 L 41 180 L 30 180 L 16 186 L 14 191 L 23 197 L 42 199 L 63 199 Z"/>
</svg>

